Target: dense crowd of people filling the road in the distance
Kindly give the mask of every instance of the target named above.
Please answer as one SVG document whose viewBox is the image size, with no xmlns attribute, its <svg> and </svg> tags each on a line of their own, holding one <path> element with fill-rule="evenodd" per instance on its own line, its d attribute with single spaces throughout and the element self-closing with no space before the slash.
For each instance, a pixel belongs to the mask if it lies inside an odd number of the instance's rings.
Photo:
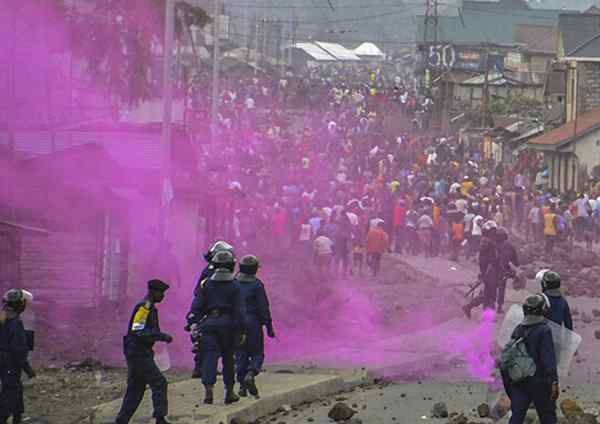
<svg viewBox="0 0 600 424">
<path fill-rule="evenodd" d="M 593 247 L 600 187 L 560 197 L 536 154 L 497 163 L 483 143 L 412 126 L 431 100 L 410 77 L 352 71 L 227 86 L 219 142 L 205 156 L 230 197 L 220 236 L 250 250 L 312 248 L 320 269 L 342 273 L 390 250 L 474 258 L 488 220 L 549 254 L 562 241 Z M 369 237 L 378 228 L 387 243 Z"/>
</svg>

